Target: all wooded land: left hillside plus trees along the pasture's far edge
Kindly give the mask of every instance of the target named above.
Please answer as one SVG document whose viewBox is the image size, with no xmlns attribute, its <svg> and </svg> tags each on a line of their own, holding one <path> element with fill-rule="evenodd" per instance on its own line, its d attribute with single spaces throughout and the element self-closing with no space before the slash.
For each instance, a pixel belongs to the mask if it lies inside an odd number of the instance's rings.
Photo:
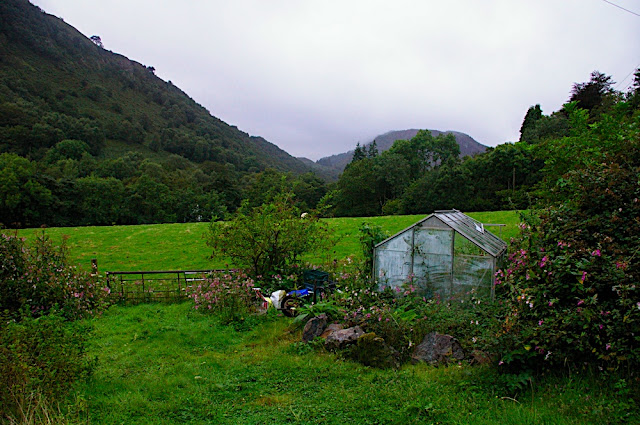
<svg viewBox="0 0 640 425">
<path fill-rule="evenodd" d="M 327 183 L 154 71 L 27 0 L 1 2 L 0 223 L 208 221 L 243 199 L 260 205 L 282 192 L 327 216 L 527 208 L 546 193 L 543 182 L 633 125 L 640 104 L 639 72 L 623 93 L 594 71 L 561 110 L 526 111 L 515 143 L 461 159 L 453 135 L 420 131 L 381 153 L 358 146 L 339 180 Z"/>
</svg>

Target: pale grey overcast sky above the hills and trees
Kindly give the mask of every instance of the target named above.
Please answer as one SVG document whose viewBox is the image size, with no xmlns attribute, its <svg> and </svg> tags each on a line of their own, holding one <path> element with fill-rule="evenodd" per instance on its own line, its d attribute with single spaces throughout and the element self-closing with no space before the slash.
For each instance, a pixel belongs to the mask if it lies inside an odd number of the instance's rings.
<svg viewBox="0 0 640 425">
<path fill-rule="evenodd" d="M 604 0 L 31 1 L 311 159 L 408 128 L 516 141 L 529 106 L 558 110 L 594 70 L 624 90 L 640 66 L 640 16 Z"/>
</svg>

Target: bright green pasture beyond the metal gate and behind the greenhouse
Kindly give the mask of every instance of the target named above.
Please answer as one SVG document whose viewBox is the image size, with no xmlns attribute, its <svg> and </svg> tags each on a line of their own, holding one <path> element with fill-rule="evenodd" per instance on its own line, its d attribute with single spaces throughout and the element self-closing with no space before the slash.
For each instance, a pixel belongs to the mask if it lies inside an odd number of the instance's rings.
<svg viewBox="0 0 640 425">
<path fill-rule="evenodd" d="M 483 223 L 505 224 L 489 228 L 508 241 L 517 234 L 519 216 L 515 211 L 469 213 Z M 364 221 L 381 226 L 394 234 L 424 215 L 370 218 L 327 219 L 335 238 L 333 250 L 306 258 L 312 262 L 328 262 L 349 255 L 361 255 L 358 228 Z M 223 268 L 227 261 L 210 258 L 203 234 L 208 223 L 151 224 L 139 226 L 60 227 L 46 229 L 56 242 L 67 239 L 70 261 L 88 270 L 91 259 L 98 260 L 101 271 L 188 270 Z M 32 239 L 42 229 L 24 229 L 18 234 Z"/>
</svg>

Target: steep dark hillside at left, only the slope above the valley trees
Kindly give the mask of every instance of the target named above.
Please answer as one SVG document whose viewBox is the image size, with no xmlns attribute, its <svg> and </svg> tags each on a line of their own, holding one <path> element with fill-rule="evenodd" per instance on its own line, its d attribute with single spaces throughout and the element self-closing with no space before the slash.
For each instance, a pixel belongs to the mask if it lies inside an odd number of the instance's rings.
<svg viewBox="0 0 640 425">
<path fill-rule="evenodd" d="M 0 2 L 0 99 L 0 152 L 39 159 L 73 138 L 94 156 L 115 141 L 239 171 L 308 171 L 211 116 L 152 67 L 99 47 L 27 0 Z"/>
</svg>

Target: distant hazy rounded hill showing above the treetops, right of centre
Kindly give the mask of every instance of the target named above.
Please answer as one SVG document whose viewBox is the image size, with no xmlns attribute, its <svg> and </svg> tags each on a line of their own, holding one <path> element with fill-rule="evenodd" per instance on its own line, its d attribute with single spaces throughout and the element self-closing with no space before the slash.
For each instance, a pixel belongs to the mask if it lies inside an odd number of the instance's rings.
<svg viewBox="0 0 640 425">
<path fill-rule="evenodd" d="M 451 133 L 456 137 L 456 141 L 460 146 L 460 156 L 473 156 L 477 153 L 484 152 L 487 147 L 475 141 L 471 136 L 460 133 L 458 131 L 439 131 L 439 130 L 430 130 L 433 137 L 437 137 L 440 134 L 448 134 Z M 396 140 L 410 140 L 416 134 L 418 134 L 417 129 L 410 130 L 398 130 L 398 131 L 390 131 L 385 134 L 381 134 L 377 136 L 374 140 L 376 145 L 378 146 L 378 150 L 380 152 L 386 151 L 391 148 L 393 142 Z M 373 143 L 373 140 L 369 143 L 366 143 L 365 146 Z M 342 172 L 344 168 L 351 162 L 353 158 L 353 150 L 349 152 L 340 153 L 337 155 L 328 156 L 325 158 L 320 158 L 317 161 L 317 164 L 322 167 L 327 167 L 332 170 L 336 170 L 337 172 Z"/>
</svg>

